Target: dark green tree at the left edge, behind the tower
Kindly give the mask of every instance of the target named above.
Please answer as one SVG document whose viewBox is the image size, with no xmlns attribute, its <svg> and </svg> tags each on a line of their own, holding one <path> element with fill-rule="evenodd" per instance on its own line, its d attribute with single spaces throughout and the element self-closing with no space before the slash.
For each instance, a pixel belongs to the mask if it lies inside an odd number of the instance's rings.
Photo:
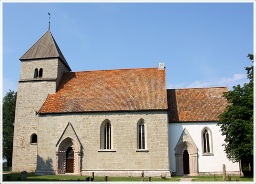
<svg viewBox="0 0 256 184">
<path fill-rule="evenodd" d="M 17 92 L 9 90 L 3 98 L 3 158 L 12 166 L 13 124 Z"/>
</svg>

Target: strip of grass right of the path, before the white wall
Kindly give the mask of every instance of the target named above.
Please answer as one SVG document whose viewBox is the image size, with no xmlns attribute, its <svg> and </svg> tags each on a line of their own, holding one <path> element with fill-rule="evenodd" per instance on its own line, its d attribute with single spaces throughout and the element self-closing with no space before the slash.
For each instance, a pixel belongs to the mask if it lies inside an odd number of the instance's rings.
<svg viewBox="0 0 256 184">
<path fill-rule="evenodd" d="M 211 182 L 211 181 L 215 181 L 215 182 L 223 182 L 222 180 L 222 176 L 216 176 L 216 179 L 214 180 L 213 175 L 211 176 L 196 176 L 193 177 L 194 179 L 192 179 L 192 181 L 202 181 L 202 182 Z M 253 177 L 252 176 L 245 176 L 245 177 L 233 177 L 231 176 L 231 181 L 236 181 L 236 179 L 239 179 L 239 181 L 253 181 Z M 228 182 L 228 176 L 227 176 L 227 182 Z"/>
</svg>

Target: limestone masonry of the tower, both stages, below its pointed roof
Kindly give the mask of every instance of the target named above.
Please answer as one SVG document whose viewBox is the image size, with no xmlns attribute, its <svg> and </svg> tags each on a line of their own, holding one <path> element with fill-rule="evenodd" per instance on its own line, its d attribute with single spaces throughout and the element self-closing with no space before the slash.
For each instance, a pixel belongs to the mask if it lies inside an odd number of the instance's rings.
<svg viewBox="0 0 256 184">
<path fill-rule="evenodd" d="M 34 79 L 35 68 L 43 68 L 43 77 Z M 38 135 L 38 115 L 48 94 L 56 92 L 56 78 L 60 81 L 68 71 L 58 58 L 21 62 L 15 109 L 12 172 L 35 172 L 37 143 L 30 143 L 31 135 Z M 50 80 L 49 80 L 50 79 Z M 55 80 L 53 80 L 55 79 Z"/>
</svg>

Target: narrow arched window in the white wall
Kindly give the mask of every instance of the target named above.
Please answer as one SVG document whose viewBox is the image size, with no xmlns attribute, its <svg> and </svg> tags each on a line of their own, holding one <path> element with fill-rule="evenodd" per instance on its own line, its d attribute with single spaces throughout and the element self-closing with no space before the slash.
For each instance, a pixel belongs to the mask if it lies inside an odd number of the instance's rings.
<svg viewBox="0 0 256 184">
<path fill-rule="evenodd" d="M 207 127 L 202 130 L 202 150 L 203 155 L 213 154 L 212 132 Z"/>
</svg>

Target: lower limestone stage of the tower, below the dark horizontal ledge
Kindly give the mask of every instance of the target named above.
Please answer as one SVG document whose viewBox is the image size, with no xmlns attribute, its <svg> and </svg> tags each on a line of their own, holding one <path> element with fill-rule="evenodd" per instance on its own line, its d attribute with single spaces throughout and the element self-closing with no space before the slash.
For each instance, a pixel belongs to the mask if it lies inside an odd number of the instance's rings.
<svg viewBox="0 0 256 184">
<path fill-rule="evenodd" d="M 55 81 L 19 82 L 15 110 L 12 172 L 35 172 L 37 144 L 30 144 L 38 135 L 39 111 L 49 93 L 55 92 Z"/>
</svg>

